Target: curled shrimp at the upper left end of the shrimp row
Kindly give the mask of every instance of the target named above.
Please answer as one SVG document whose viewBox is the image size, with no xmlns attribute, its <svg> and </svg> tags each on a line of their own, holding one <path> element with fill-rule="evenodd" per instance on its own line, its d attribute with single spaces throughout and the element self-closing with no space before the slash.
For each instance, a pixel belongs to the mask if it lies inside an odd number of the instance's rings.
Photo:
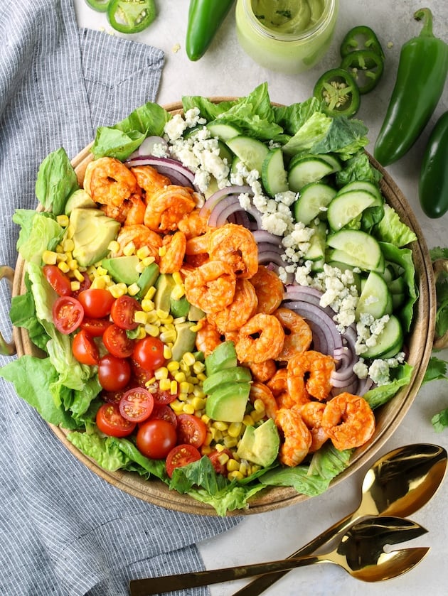
<svg viewBox="0 0 448 596">
<path fill-rule="evenodd" d="M 134 174 L 124 163 L 113 157 L 100 157 L 85 168 L 84 190 L 101 205 L 119 207 L 140 188 Z"/>
</svg>

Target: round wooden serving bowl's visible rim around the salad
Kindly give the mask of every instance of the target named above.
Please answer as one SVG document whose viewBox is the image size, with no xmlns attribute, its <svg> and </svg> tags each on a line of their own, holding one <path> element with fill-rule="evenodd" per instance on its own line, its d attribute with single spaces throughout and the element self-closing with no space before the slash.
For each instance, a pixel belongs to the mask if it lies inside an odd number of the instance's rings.
<svg viewBox="0 0 448 596">
<path fill-rule="evenodd" d="M 222 100 L 233 99 L 229 97 L 213 98 L 213 101 L 219 102 Z M 175 114 L 181 112 L 181 104 L 170 104 L 166 109 Z M 407 204 L 405 197 L 402 195 L 400 189 L 395 185 L 390 175 L 369 155 L 370 162 L 383 175 L 381 180 L 381 190 L 383 195 L 405 224 L 407 224 L 417 235 L 417 240 L 412 242 L 412 257 L 416 269 L 416 283 L 419 298 L 415 304 L 415 315 L 412 325 L 412 332 L 408 340 L 409 357 L 407 362 L 413 368 L 412 379 L 409 385 L 403 387 L 398 391 L 393 399 L 391 399 L 385 406 L 381 406 L 375 411 L 376 429 L 373 438 L 358 448 L 353 454 L 351 465 L 341 473 L 334 481 L 332 486 L 343 482 L 349 475 L 353 474 L 361 466 L 363 466 L 370 458 L 382 447 L 388 438 L 393 434 L 395 428 L 401 423 L 412 401 L 415 399 L 417 392 L 422 384 L 422 379 L 427 369 L 427 364 L 434 342 L 434 325 L 436 313 L 436 295 L 435 295 L 435 278 L 432 268 L 432 261 L 430 253 L 427 249 L 425 239 L 423 238 L 420 225 Z M 78 175 L 80 183 L 84 178 L 85 168 L 87 163 L 92 160 L 90 153 L 90 146 L 87 146 L 81 151 L 78 156 L 73 159 L 73 167 Z M 14 272 L 13 281 L 13 296 L 17 296 L 24 291 L 24 263 L 21 257 L 18 257 L 16 270 Z M 33 354 L 38 356 L 39 350 L 31 344 L 28 333 L 23 328 L 14 328 L 13 339 L 18 356 L 23 354 Z M 142 499 L 146 502 L 164 507 L 166 509 L 173 509 L 182 511 L 188 514 L 200 514 L 207 516 L 215 516 L 216 512 L 213 507 L 197 502 L 188 495 L 178 494 L 161 482 L 159 479 L 142 479 L 139 475 L 132 472 L 107 472 L 103 470 L 97 463 L 89 457 L 83 455 L 75 446 L 67 439 L 68 431 L 63 428 L 50 425 L 55 435 L 65 445 L 68 450 L 75 457 L 86 465 L 92 472 L 105 479 L 115 487 L 124 490 L 134 497 Z M 264 511 L 272 511 L 281 507 L 288 506 L 293 503 L 302 502 L 309 497 L 304 494 L 297 493 L 293 488 L 283 487 L 268 487 L 257 496 L 253 497 L 250 506 L 246 510 L 231 511 L 229 515 L 241 514 L 258 514 Z"/>
</svg>

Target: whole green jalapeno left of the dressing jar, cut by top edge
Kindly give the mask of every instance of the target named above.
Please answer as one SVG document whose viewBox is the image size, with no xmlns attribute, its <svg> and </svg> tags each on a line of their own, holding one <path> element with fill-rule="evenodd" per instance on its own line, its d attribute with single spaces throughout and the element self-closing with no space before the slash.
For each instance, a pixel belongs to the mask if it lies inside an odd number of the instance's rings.
<svg viewBox="0 0 448 596">
<path fill-rule="evenodd" d="M 186 31 L 186 54 L 199 60 L 206 53 L 235 0 L 190 0 Z"/>
</svg>

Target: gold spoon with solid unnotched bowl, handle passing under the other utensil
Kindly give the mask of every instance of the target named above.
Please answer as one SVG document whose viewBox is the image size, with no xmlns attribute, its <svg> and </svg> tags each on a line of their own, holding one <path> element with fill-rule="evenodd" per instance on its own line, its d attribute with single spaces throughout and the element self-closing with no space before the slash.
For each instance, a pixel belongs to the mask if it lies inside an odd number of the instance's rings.
<svg viewBox="0 0 448 596">
<path fill-rule="evenodd" d="M 367 516 L 412 515 L 434 496 L 446 470 L 447 451 L 439 445 L 416 443 L 386 453 L 366 472 L 358 509 L 289 555 L 289 558 L 314 553 L 346 531 L 351 524 Z M 286 575 L 287 571 L 262 575 L 233 596 L 258 596 Z"/>
</svg>

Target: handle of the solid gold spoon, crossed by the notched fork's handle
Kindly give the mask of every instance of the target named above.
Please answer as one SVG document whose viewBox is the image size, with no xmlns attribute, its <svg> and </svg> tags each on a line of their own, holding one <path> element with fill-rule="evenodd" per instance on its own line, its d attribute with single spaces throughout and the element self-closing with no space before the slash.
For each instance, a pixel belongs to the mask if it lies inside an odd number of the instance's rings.
<svg viewBox="0 0 448 596">
<path fill-rule="evenodd" d="M 360 518 L 361 516 L 358 514 L 358 511 L 353 511 L 352 514 L 349 514 L 340 521 L 336 521 L 336 524 L 324 530 L 322 533 L 319 534 L 319 536 L 313 538 L 311 541 L 309 541 L 309 543 L 306 543 L 304 546 L 299 548 L 298 551 L 295 551 L 295 553 L 289 555 L 289 557 L 287 557 L 287 560 L 297 557 L 304 557 L 306 555 L 311 555 L 311 553 L 314 553 L 314 551 L 316 551 L 318 548 L 324 546 L 324 544 L 326 544 L 333 538 L 336 538 L 336 536 L 339 533 L 346 531 L 346 529 L 348 529 L 351 526 L 351 524 L 353 524 L 355 521 L 358 521 L 358 519 Z M 281 579 L 284 575 L 286 575 L 288 571 L 289 568 L 284 568 L 283 570 L 279 570 L 277 572 L 267 573 L 266 575 L 260 575 L 260 578 L 256 578 L 249 584 L 245 585 L 240 590 L 238 590 L 238 592 L 235 592 L 233 596 L 258 596 L 259 594 L 267 590 L 268 587 L 277 582 L 277 580 Z"/>
</svg>

